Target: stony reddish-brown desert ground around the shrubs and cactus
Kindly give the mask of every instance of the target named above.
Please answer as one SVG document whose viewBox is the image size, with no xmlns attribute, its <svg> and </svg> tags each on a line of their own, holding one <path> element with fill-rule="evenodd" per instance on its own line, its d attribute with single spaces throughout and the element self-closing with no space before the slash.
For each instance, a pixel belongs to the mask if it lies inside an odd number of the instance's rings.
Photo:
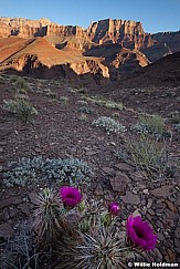
<svg viewBox="0 0 180 269">
<path fill-rule="evenodd" d="M 50 52 L 45 52 L 45 49 L 46 43 L 44 43 L 43 53 L 49 54 Z M 61 55 L 63 53 L 65 52 L 60 52 Z M 53 60 L 51 59 L 51 61 Z M 3 100 L 14 97 L 17 87 L 13 80 L 12 76 L 1 75 L 0 105 L 3 104 Z M 30 237 L 35 196 L 49 184 L 43 179 L 41 182 L 34 179 L 25 187 L 8 188 L 3 178 L 9 162 L 34 156 L 73 157 L 87 162 L 95 172 L 92 186 L 87 192 L 88 197 L 103 198 L 106 205 L 118 200 L 120 223 L 125 223 L 129 214 L 139 213 L 152 225 L 158 235 L 158 245 L 149 255 L 151 261 L 180 263 L 179 169 L 172 178 L 163 180 L 153 182 L 151 178 L 140 177 L 135 166 L 118 159 L 114 153 L 117 146 L 124 148 L 127 145 L 128 135 L 108 136 L 103 130 L 92 125 L 92 121 L 98 116 L 113 117 L 115 110 L 87 101 L 87 106 L 94 108 L 95 114 L 86 114 L 85 117 L 80 112 L 82 105 L 78 103 L 85 97 L 85 94 L 78 93 L 75 85 L 64 81 L 34 79 L 27 79 L 27 82 L 29 83 L 28 101 L 39 112 L 32 123 L 23 124 L 0 106 L 1 248 L 4 249 L 8 240 L 13 237 L 18 238 L 19 235 Z M 179 158 L 180 137 L 179 133 L 173 130 L 169 113 L 174 110 L 180 113 L 178 106 L 180 89 L 167 87 L 160 91 L 159 87 L 149 87 L 144 92 L 141 90 L 134 90 L 134 92 L 121 90 L 120 94 L 121 97 L 125 96 L 123 102 L 126 108 L 118 111 L 119 115 L 116 115 L 116 118 L 118 116 L 118 121 L 126 126 L 128 134 L 130 134 L 131 124 L 137 122 L 140 110 L 149 113 L 160 113 L 161 111 L 162 116 L 167 118 L 166 128 L 173 134 L 170 147 L 171 156 L 174 159 Z M 89 95 L 91 90 L 86 96 Z M 66 102 L 62 101 L 62 96 L 67 97 Z M 147 102 L 141 102 L 145 99 Z M 160 105 L 158 105 L 159 103 Z"/>
</svg>

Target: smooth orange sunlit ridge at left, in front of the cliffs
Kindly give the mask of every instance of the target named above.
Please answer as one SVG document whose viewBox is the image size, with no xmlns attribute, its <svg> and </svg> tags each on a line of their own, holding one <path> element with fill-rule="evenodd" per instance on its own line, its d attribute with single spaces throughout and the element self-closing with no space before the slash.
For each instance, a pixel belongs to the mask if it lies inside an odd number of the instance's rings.
<svg viewBox="0 0 180 269">
<path fill-rule="evenodd" d="M 21 72 L 43 79 L 63 76 L 72 80 L 77 79 L 77 75 L 86 74 L 91 77 L 109 77 L 108 68 L 104 66 L 97 58 L 82 56 L 78 51 L 72 51 L 70 48 L 57 50 L 43 38 L 28 40 L 29 43 L 24 39 L 18 39 L 18 42 L 12 42 L 12 38 L 9 39 L 11 51 L 15 52 L 8 58 L 1 58 L 1 71 Z M 7 55 L 9 48 L 3 41 L 4 39 L 1 43 L 0 40 L 0 48 Z"/>
</svg>

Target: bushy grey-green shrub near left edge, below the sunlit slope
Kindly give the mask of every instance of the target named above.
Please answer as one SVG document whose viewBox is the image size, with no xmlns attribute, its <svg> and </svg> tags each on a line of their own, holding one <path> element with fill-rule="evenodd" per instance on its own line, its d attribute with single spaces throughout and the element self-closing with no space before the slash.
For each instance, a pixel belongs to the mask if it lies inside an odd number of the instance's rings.
<svg viewBox="0 0 180 269">
<path fill-rule="evenodd" d="M 24 123 L 30 122 L 32 116 L 38 114 L 33 105 L 21 97 L 8 101 L 4 100 L 3 103 L 3 110 L 17 115 L 17 117 Z"/>
</svg>

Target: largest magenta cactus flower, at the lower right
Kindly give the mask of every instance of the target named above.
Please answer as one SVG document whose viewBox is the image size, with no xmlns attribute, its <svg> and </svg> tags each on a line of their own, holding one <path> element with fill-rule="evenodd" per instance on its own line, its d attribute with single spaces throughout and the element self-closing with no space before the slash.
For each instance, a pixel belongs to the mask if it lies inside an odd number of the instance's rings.
<svg viewBox="0 0 180 269">
<path fill-rule="evenodd" d="M 157 235 L 153 235 L 147 221 L 142 221 L 140 216 L 128 217 L 126 224 L 127 239 L 133 247 L 140 247 L 144 250 L 151 250 L 157 244 Z"/>
</svg>

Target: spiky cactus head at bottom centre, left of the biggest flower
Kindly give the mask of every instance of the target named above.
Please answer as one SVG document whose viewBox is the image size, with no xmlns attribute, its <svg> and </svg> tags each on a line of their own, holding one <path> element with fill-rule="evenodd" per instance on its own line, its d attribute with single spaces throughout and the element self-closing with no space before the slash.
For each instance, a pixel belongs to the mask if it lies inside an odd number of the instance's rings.
<svg viewBox="0 0 180 269">
<path fill-rule="evenodd" d="M 125 260 L 131 252 L 131 248 L 126 246 L 126 231 L 117 231 L 115 225 L 98 226 L 92 235 L 82 234 L 76 245 L 67 238 L 66 244 L 60 244 L 57 249 L 64 259 L 56 269 L 126 268 Z"/>
</svg>

